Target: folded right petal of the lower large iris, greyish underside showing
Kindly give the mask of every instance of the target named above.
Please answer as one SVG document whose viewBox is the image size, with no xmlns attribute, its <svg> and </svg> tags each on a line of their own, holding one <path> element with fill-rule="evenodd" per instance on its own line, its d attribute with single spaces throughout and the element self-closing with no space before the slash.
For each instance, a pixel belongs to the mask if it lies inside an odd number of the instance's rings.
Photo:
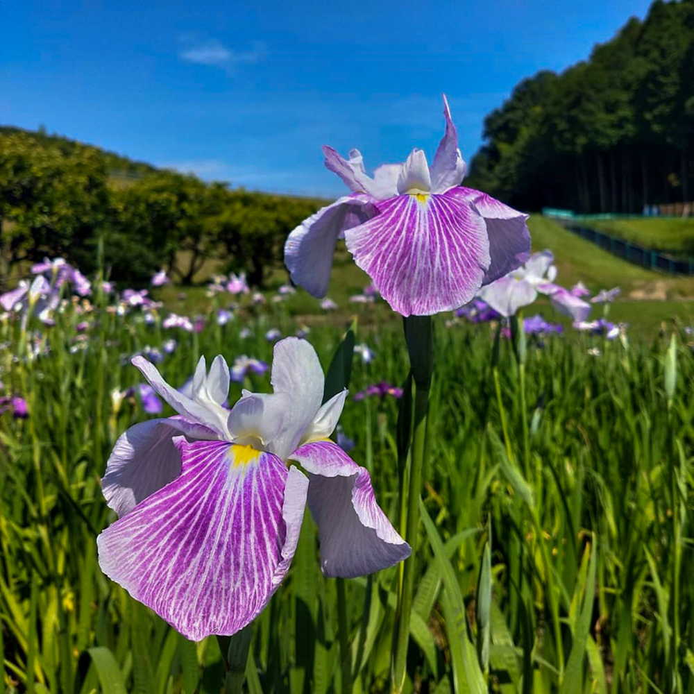
<svg viewBox="0 0 694 694">
<path fill-rule="evenodd" d="M 409 545 L 375 500 L 369 472 L 332 441 L 291 454 L 309 473 L 308 506 L 318 525 L 321 569 L 353 578 L 407 559 Z"/>
</svg>

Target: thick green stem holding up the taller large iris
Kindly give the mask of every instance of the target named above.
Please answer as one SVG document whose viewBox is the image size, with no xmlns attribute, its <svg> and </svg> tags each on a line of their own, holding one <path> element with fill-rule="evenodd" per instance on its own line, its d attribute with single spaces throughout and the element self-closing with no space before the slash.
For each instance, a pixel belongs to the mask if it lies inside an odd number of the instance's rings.
<svg viewBox="0 0 694 694">
<path fill-rule="evenodd" d="M 405 319 L 405 340 L 414 378 L 414 432 L 412 455 L 407 485 L 407 524 L 405 540 L 412 548 L 412 555 L 403 564 L 402 589 L 398 593 L 396 627 L 391 659 L 393 692 L 401 692 L 405 686 L 407 670 L 407 645 L 409 643 L 409 618 L 412 613 L 414 575 L 416 573 L 417 531 L 419 526 L 419 499 L 427 450 L 427 425 L 429 416 L 429 391 L 432 378 L 432 325 L 430 316 L 409 316 Z"/>
</svg>

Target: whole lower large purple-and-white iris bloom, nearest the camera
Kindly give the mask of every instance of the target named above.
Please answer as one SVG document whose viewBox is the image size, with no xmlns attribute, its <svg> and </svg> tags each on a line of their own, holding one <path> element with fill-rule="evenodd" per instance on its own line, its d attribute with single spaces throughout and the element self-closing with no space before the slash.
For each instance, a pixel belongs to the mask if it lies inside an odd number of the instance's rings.
<svg viewBox="0 0 694 694">
<path fill-rule="evenodd" d="M 372 573 L 409 556 L 369 473 L 328 440 L 347 391 L 321 405 L 323 371 L 309 343 L 279 342 L 274 392 L 244 391 L 231 410 L 221 405 L 221 356 L 209 373 L 201 359 L 190 397 L 143 357 L 133 364 L 178 415 L 136 424 L 116 442 L 102 487 L 119 520 L 97 539 L 99 564 L 181 634 L 234 634 L 264 609 L 306 505 L 325 575 Z"/>
</svg>

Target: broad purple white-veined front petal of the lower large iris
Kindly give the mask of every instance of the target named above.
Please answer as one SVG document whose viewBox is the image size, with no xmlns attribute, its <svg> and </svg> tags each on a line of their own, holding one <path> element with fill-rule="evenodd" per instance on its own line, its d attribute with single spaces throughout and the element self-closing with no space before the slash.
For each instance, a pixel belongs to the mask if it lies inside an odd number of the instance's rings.
<svg viewBox="0 0 694 694">
<path fill-rule="evenodd" d="M 186 638 L 235 634 L 287 573 L 307 480 L 271 453 L 176 445 L 180 475 L 99 535 L 99 564 Z"/>
</svg>

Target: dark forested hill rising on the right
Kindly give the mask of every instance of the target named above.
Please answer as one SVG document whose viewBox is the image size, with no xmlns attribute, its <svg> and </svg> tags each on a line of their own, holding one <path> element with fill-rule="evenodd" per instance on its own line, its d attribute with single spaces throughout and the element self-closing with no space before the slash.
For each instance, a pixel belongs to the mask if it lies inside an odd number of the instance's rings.
<svg viewBox="0 0 694 694">
<path fill-rule="evenodd" d="M 468 185 L 524 210 L 641 212 L 694 198 L 694 0 L 652 4 L 588 60 L 518 83 Z"/>
</svg>

